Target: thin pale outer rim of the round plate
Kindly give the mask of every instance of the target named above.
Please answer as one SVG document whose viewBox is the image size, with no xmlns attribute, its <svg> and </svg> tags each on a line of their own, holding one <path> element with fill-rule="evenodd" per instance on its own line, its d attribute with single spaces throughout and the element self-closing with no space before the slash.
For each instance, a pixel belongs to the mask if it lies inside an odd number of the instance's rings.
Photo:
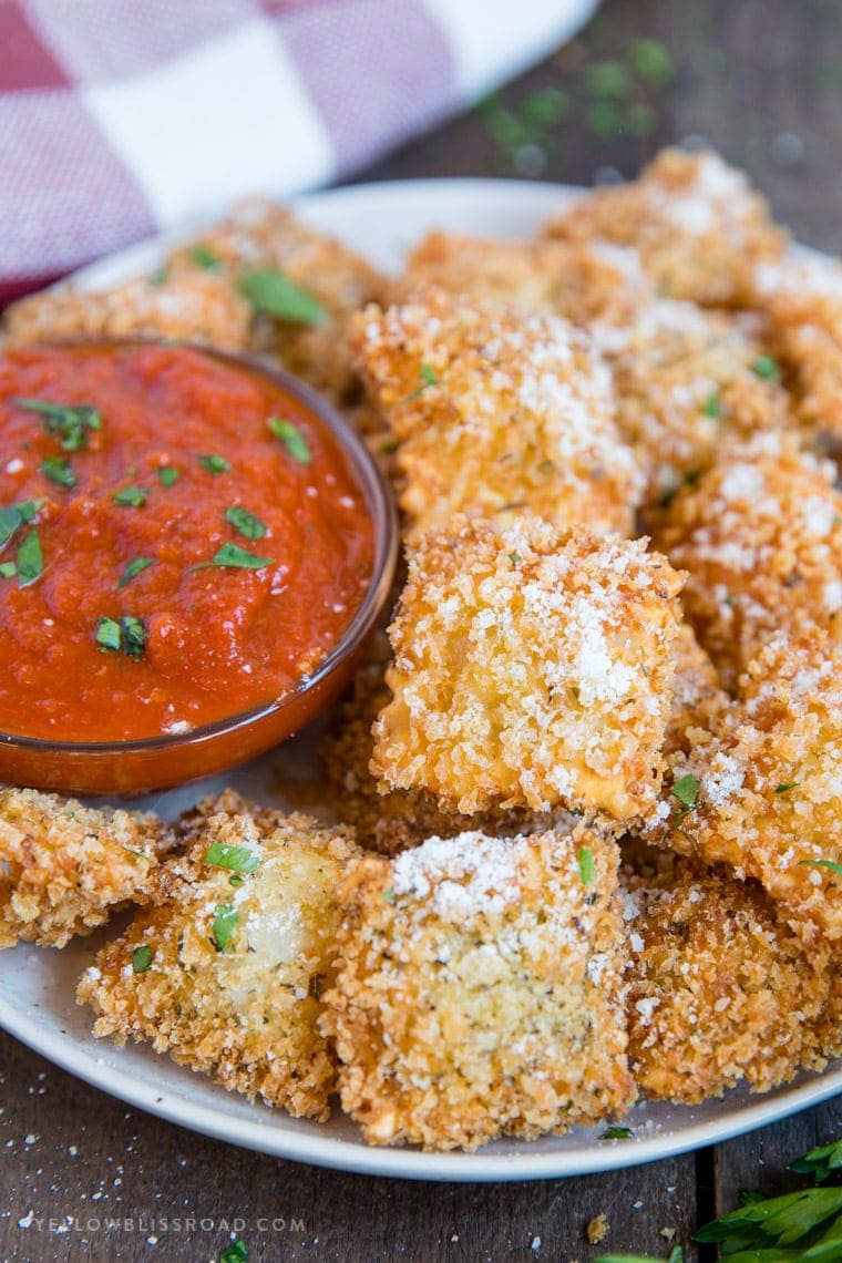
<svg viewBox="0 0 842 1263">
<path fill-rule="evenodd" d="M 540 181 L 496 179 L 489 177 L 418 177 L 382 182 L 360 182 L 340 184 L 294 198 L 285 198 L 304 220 L 318 220 L 323 213 L 331 215 L 332 208 L 359 203 L 365 206 L 371 198 L 382 197 L 398 200 L 420 198 L 500 198 L 506 202 L 529 202 L 529 211 L 537 217 L 545 216 L 559 203 L 581 196 L 584 189 L 571 184 L 558 184 Z M 525 213 L 525 210 L 518 211 Z M 104 283 L 114 283 L 115 277 L 130 275 L 141 270 L 144 260 L 154 259 L 173 244 L 201 231 L 207 220 L 186 225 L 174 232 L 160 232 L 106 255 L 72 273 L 59 284 L 69 280 L 76 288 L 95 289 Z M 329 231 L 342 239 L 341 229 L 333 226 Z M 482 232 L 480 231 L 480 235 Z M 365 251 L 361 251 L 365 253 Z M 812 251 L 810 251 L 812 253 Z M 32 945 L 21 945 L 30 947 Z M 20 950 L 20 949 L 18 949 Z M 5 955 L 5 954 L 4 954 Z M 34 1052 L 40 1053 L 53 1065 L 145 1113 L 165 1122 L 174 1123 L 188 1130 L 237 1144 L 252 1152 L 266 1153 L 288 1161 L 312 1163 L 319 1167 L 356 1172 L 359 1175 L 382 1176 L 403 1180 L 438 1180 L 447 1182 L 507 1182 L 525 1180 L 566 1178 L 577 1175 L 595 1175 L 655 1162 L 680 1153 L 693 1152 L 707 1144 L 720 1143 L 742 1135 L 755 1128 L 768 1125 L 779 1119 L 809 1109 L 842 1092 L 842 1063 L 831 1066 L 821 1074 L 813 1074 L 807 1081 L 784 1085 L 774 1095 L 751 1096 L 747 1101 L 735 1105 L 731 1114 L 723 1118 L 699 1119 L 682 1127 L 675 1133 L 660 1132 L 635 1137 L 625 1142 L 588 1143 L 581 1149 L 563 1148 L 557 1151 L 530 1149 L 529 1142 L 523 1142 L 523 1149 L 514 1153 L 494 1153 L 475 1151 L 472 1153 L 427 1153 L 417 1148 L 377 1148 L 361 1140 L 350 1142 L 332 1135 L 303 1135 L 299 1132 L 273 1128 L 263 1122 L 264 1115 L 255 1114 L 254 1122 L 231 1118 L 212 1105 L 192 1101 L 168 1086 L 154 1087 L 139 1080 L 130 1070 L 109 1066 L 97 1058 L 95 1052 L 80 1047 L 74 1037 L 61 1028 L 58 1015 L 57 1029 L 39 1026 L 28 1009 L 15 1007 L 0 995 L 0 1027 L 8 1034 L 19 1039 Z M 95 1048 L 96 1046 L 93 1046 Z M 119 1055 L 120 1050 L 110 1046 Z M 165 1056 L 155 1055 L 151 1056 Z M 170 1065 L 175 1065 L 170 1062 Z M 178 1067 L 183 1070 L 184 1067 Z M 188 1071 L 189 1072 L 189 1071 Z M 215 1091 L 222 1092 L 221 1085 L 205 1080 Z M 680 1108 L 680 1106 L 675 1106 Z M 697 1106 L 703 1109 L 703 1105 Z M 287 1115 L 278 1111 L 283 1120 Z M 312 1124 L 318 1128 L 318 1123 Z"/>
</svg>

